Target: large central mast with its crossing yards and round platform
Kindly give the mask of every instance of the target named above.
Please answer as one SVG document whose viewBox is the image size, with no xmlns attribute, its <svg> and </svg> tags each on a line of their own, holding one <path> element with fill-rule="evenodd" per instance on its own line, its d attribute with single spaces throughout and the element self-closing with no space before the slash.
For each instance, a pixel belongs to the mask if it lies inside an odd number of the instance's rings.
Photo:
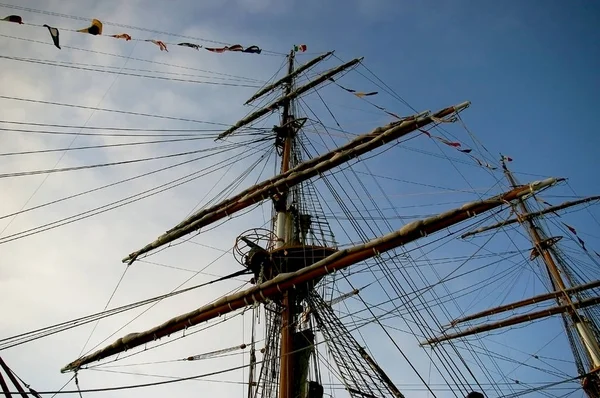
<svg viewBox="0 0 600 398">
<path fill-rule="evenodd" d="M 312 324 L 309 325 L 308 329 L 301 329 L 302 325 L 298 322 L 304 306 L 307 311 L 306 314 L 310 315 L 312 312 L 312 316 L 317 321 L 317 327 L 328 335 L 328 346 L 330 344 L 337 346 L 336 342 L 339 340 L 342 343 L 340 345 L 346 349 L 352 347 L 350 351 L 344 352 L 333 350 L 334 361 L 339 368 L 343 369 L 341 373 L 344 386 L 351 396 L 374 396 L 369 391 L 377 390 L 379 392 L 387 391 L 383 395 L 391 394 L 395 397 L 402 397 L 400 391 L 393 385 L 391 378 L 384 373 L 381 366 L 353 339 L 350 332 L 335 317 L 331 308 L 324 304 L 324 301 L 316 294 L 314 290 L 316 284 L 328 274 L 449 228 L 494 208 L 505 206 L 537 190 L 552 186 L 562 181 L 562 179 L 549 178 L 532 182 L 527 186 L 518 186 L 495 197 L 466 203 L 460 208 L 415 221 L 367 243 L 342 250 L 338 250 L 337 247 L 328 247 L 325 241 L 321 243 L 311 241 L 312 243 L 308 244 L 305 232 L 311 221 L 309 214 L 302 214 L 302 209 L 299 206 L 298 190 L 301 189 L 301 184 L 369 153 L 375 148 L 394 142 L 419 128 L 433 123 L 436 119 L 458 113 L 469 106 L 469 102 L 463 102 L 441 109 L 433 114 L 429 111 L 417 113 L 378 127 L 369 133 L 359 135 L 332 151 L 302 161 L 297 154 L 295 141 L 306 119 L 294 116 L 294 99 L 358 64 L 362 59 L 353 59 L 321 73 L 319 77 L 300 87 L 294 88 L 294 78 L 301 71 L 306 70 L 329 54 L 294 69 L 295 54 L 291 51 L 288 57 L 287 75 L 273 83 L 267 90 L 259 91 L 253 98 L 258 98 L 278 86 L 283 86 L 283 95 L 268 106 L 256 110 L 239 120 L 219 135 L 221 139 L 227 137 L 240 127 L 281 108 L 280 123 L 273 128 L 275 146 L 281 157 L 280 173 L 277 176 L 257 183 L 213 206 L 198 211 L 153 242 L 123 259 L 123 262 L 131 264 L 140 255 L 149 253 L 184 235 L 231 216 L 252 204 L 271 199 L 275 220 L 271 231 L 263 230 L 270 234 L 268 247 L 263 247 L 258 241 L 253 241 L 251 235 L 244 234 L 238 237 L 234 247 L 234 255 L 237 252 L 241 256 L 240 258 L 243 259 L 243 261 L 240 261 L 240 259 L 238 261 L 254 273 L 252 283 L 255 286 L 224 296 L 189 313 L 169 319 L 154 328 L 139 333 L 130 333 L 107 347 L 69 363 L 61 369 L 62 372 L 77 371 L 91 362 L 142 346 L 232 311 L 262 303 L 265 304 L 266 310 L 267 306 L 269 307 L 269 317 L 276 314 L 268 322 L 279 329 L 279 335 L 273 334 L 274 341 L 277 342 L 278 340 L 279 342 L 279 347 L 277 347 L 277 344 L 272 345 L 275 355 L 272 354 L 270 348 L 266 351 L 266 355 L 273 361 L 267 361 L 266 359 L 263 361 L 264 369 L 269 372 L 269 375 L 275 375 L 279 372 L 277 396 L 279 398 L 322 396 L 323 387 L 319 385 L 319 382 L 309 382 L 307 379 L 308 358 L 314 350 L 315 336 Z M 259 230 L 253 231 L 257 236 L 260 235 Z M 239 243 L 244 243 L 246 246 L 238 246 Z M 335 244 L 329 246 L 335 246 Z M 586 302 L 575 304 L 576 306 L 591 305 Z M 276 360 L 277 356 L 279 357 L 278 361 Z M 600 358 L 600 356 L 598 357 Z M 275 365 L 272 365 L 272 363 Z M 276 369 L 277 365 L 279 369 Z M 272 376 L 273 379 L 275 377 Z M 249 378 L 249 385 L 252 386 L 251 372 Z M 275 383 L 273 384 L 277 387 Z M 371 387 L 376 388 L 372 389 Z M 312 393 L 310 393 L 311 391 Z M 274 396 L 273 393 L 274 391 L 271 391 L 269 387 L 266 395 L 263 396 Z M 252 391 L 249 390 L 249 396 L 251 395 Z"/>
</svg>

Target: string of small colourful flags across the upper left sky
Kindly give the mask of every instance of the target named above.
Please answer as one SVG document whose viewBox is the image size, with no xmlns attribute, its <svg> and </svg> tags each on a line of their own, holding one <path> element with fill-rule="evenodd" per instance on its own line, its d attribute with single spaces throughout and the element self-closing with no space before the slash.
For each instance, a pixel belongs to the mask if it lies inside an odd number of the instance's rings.
<svg viewBox="0 0 600 398">
<path fill-rule="evenodd" d="M 23 22 L 23 18 L 19 15 L 9 15 L 7 17 L 2 18 L 1 21 L 17 23 L 19 25 L 44 27 L 44 28 L 48 29 L 48 32 L 50 33 L 50 37 L 52 38 L 52 42 L 54 43 L 54 46 L 58 49 L 61 48 L 60 47 L 60 32 L 59 32 L 58 28 L 55 28 L 55 27 L 47 25 L 47 24 L 36 25 L 36 24 L 25 23 L 25 22 Z M 77 29 L 77 30 L 64 29 L 64 28 L 61 28 L 61 29 L 71 31 L 71 32 L 78 32 L 78 33 L 85 33 L 85 34 L 90 34 L 90 35 L 94 35 L 94 36 L 100 36 L 100 35 L 102 35 L 103 26 L 102 26 L 102 22 L 100 20 L 93 19 L 90 26 L 88 26 L 86 28 Z M 167 45 L 188 47 L 188 48 L 192 48 L 195 50 L 200 50 L 201 48 L 203 48 L 203 49 L 213 52 L 213 53 L 224 53 L 224 52 L 231 51 L 231 52 L 242 52 L 242 53 L 248 53 L 248 54 L 260 54 L 262 52 L 262 49 L 256 45 L 251 45 L 249 47 L 243 47 L 241 44 L 234 44 L 232 46 L 224 46 L 224 47 L 204 47 L 199 44 L 189 43 L 189 42 L 167 43 L 162 40 L 154 40 L 154 39 L 147 39 L 147 40 L 134 39 L 131 37 L 131 35 L 129 35 L 127 33 L 117 33 L 117 34 L 111 34 L 111 35 L 105 35 L 105 36 L 112 37 L 114 39 L 121 39 L 121 40 L 125 40 L 125 41 L 139 40 L 139 41 L 150 42 L 150 43 L 153 43 L 156 46 L 158 46 L 160 51 L 166 51 L 166 52 L 169 52 L 169 50 L 167 49 Z M 294 46 L 294 50 L 299 51 L 299 52 L 306 51 L 306 48 L 307 47 L 305 44 L 300 44 L 300 45 Z"/>
</svg>

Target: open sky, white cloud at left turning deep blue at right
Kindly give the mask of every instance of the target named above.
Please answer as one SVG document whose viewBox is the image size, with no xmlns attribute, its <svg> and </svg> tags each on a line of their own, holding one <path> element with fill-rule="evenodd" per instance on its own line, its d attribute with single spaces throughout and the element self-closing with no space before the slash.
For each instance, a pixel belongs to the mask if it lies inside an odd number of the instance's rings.
<svg viewBox="0 0 600 398">
<path fill-rule="evenodd" d="M 596 149 L 600 145 L 600 138 L 595 132 L 594 115 L 600 106 L 600 77 L 597 72 L 600 70 L 600 49 L 597 44 L 600 42 L 600 30 L 597 28 L 600 26 L 600 6 L 592 1 L 572 1 L 566 5 L 560 1 L 178 0 L 167 5 L 142 0 L 128 1 L 125 4 L 117 1 L 22 0 L 9 1 L 7 4 L 49 11 L 50 13 L 38 13 L 14 10 L 5 7 L 4 3 L 0 4 L 3 14 L 18 14 L 25 22 L 37 25 L 47 23 L 64 30 L 61 30 L 60 36 L 63 49 L 58 50 L 51 45 L 48 31 L 43 27 L 2 24 L 0 54 L 5 57 L 27 57 L 44 62 L 88 63 L 111 66 L 121 71 L 128 71 L 125 68 L 161 70 L 173 73 L 168 76 L 181 79 L 250 86 L 256 86 L 256 83 L 222 78 L 235 75 L 266 81 L 283 65 L 284 58 L 281 54 L 287 53 L 294 44 L 308 46 L 305 54 L 298 55 L 301 63 L 329 50 L 335 50 L 339 59 L 328 60 L 327 67 L 341 62 L 340 59 L 346 61 L 364 57 L 365 65 L 371 72 L 419 111 L 437 110 L 465 100 L 471 101 L 470 108 L 462 114 L 463 120 L 477 139 L 489 149 L 491 155 L 486 154 L 486 159 L 497 161 L 497 154 L 500 152 L 511 156 L 514 159 L 511 168 L 516 171 L 520 181 L 527 182 L 541 178 L 540 176 L 568 177 L 569 185 L 561 187 L 559 194 L 599 193 L 600 177 L 596 170 L 600 163 Z M 65 15 L 82 19 L 67 18 Z M 105 22 L 104 35 L 130 33 L 134 38 L 158 39 L 168 43 L 192 41 L 206 46 L 218 46 L 212 41 L 240 43 L 244 46 L 256 44 L 266 51 L 261 55 L 213 54 L 204 50 L 169 46 L 168 52 L 161 52 L 152 43 L 125 42 L 67 31 L 85 27 L 86 19 L 92 18 Z M 110 25 L 107 22 L 165 33 L 135 30 Z M 166 33 L 189 38 L 169 36 Z M 119 57 L 107 53 L 118 54 Z M 140 60 L 150 60 L 154 63 Z M 235 123 L 251 110 L 242 104 L 256 91 L 256 87 L 157 80 L 58 68 L 7 58 L 2 58 L 0 62 L 0 95 L 13 98 L 0 99 L 0 119 L 4 121 L 153 129 L 214 127 L 191 121 L 139 117 L 14 100 L 18 97 L 209 121 L 219 123 L 217 127 L 221 128 Z M 374 79 L 365 69 L 361 71 Z M 380 93 L 373 97 L 374 103 L 398 114 L 414 113 L 406 105 L 378 89 L 372 81 L 357 73 L 344 76 L 339 83 L 359 91 L 379 90 Z M 318 111 L 328 126 L 339 123 L 343 129 L 361 133 L 390 122 L 388 116 L 358 101 L 338 87 L 327 86 L 321 93 L 329 109 L 314 95 L 306 99 L 306 105 Z M 335 120 L 329 116 L 330 111 L 337 116 Z M 15 126 L 3 124 L 2 127 Z M 448 129 L 453 134 L 450 137 L 471 142 L 468 141 L 469 136 L 464 130 L 456 126 Z M 345 139 L 338 137 L 335 142 L 339 144 Z M 1 152 L 4 153 L 117 142 L 114 138 L 83 136 L 72 140 L 73 136 L 0 132 Z M 318 140 L 315 142 L 318 143 Z M 59 152 L 3 156 L 0 158 L 0 173 L 151 157 L 188 148 L 195 150 L 202 148 L 202 145 L 214 144 L 210 141 L 199 144 L 178 143 L 73 151 L 66 154 Z M 406 146 L 422 151 L 450 154 L 454 158 L 461 156 L 423 138 L 412 140 L 406 143 Z M 325 150 L 322 146 L 316 148 L 318 151 Z M 449 166 L 450 162 L 445 157 L 424 156 L 423 153 L 405 149 L 395 148 L 387 154 L 388 156 L 373 159 L 369 165 L 374 173 L 397 179 L 383 181 L 390 197 L 398 201 L 394 205 L 436 204 L 436 207 L 425 210 L 416 209 L 415 214 L 449 208 L 448 205 L 440 204 L 441 202 L 475 199 L 478 195 L 486 193 L 485 189 L 481 188 L 489 187 L 490 181 L 495 178 L 491 177 L 489 171 L 474 166 L 472 162 L 459 162 Z M 400 156 L 394 156 L 396 153 Z M 236 173 L 241 173 L 250 161 L 258 158 L 258 155 L 252 155 L 249 150 L 243 148 L 236 155 L 246 156 L 248 161 L 235 165 L 231 170 L 217 168 L 216 172 L 206 179 L 196 180 L 83 221 L 26 239 L 2 241 L 0 291 L 3 299 L 0 301 L 0 312 L 4 316 L 0 321 L 0 336 L 12 336 L 102 310 L 123 275 L 125 265 L 120 262 L 122 257 L 175 225 L 199 205 L 205 204 L 214 192 L 225 187 L 224 182 L 220 180 L 221 176 L 224 176 L 225 180 L 233 178 Z M 217 159 L 225 159 L 227 156 L 228 154 L 219 155 Z M 465 157 L 461 159 L 468 160 Z M 173 162 L 166 159 L 150 162 L 151 164 L 139 163 L 51 175 L 1 178 L 0 216 L 136 176 Z M 152 178 L 135 180 L 98 191 L 93 195 L 28 212 L 14 219 L 0 219 L 0 230 L 4 229 L 0 233 L 0 239 L 152 188 L 202 167 L 210 167 L 214 163 L 214 158 L 209 158 Z M 268 171 L 272 172 L 273 169 Z M 252 176 L 253 179 L 259 177 L 258 174 Z M 249 181 L 244 181 L 241 187 L 248 186 Z M 374 185 L 371 187 L 376 189 Z M 433 192 L 439 191 L 441 187 L 446 187 L 443 199 L 433 195 Z M 465 192 L 455 194 L 448 191 L 447 187 Z M 238 191 L 240 189 L 238 188 Z M 349 193 L 350 196 L 356 196 L 355 194 L 358 192 Z M 548 200 L 558 203 L 563 199 L 556 197 Z M 384 206 L 385 202 L 382 203 L 384 204 L 381 206 Z M 232 219 L 227 227 L 219 227 L 212 233 L 201 235 L 202 239 L 195 239 L 196 242 L 212 248 L 188 243 L 159 253 L 149 261 L 194 271 L 215 261 L 205 270 L 210 275 L 200 274 L 186 286 L 209 281 L 214 275 L 234 272 L 239 269 L 239 265 L 229 253 L 235 237 L 240 231 L 267 222 L 268 215 L 264 214 L 270 210 L 268 206 L 264 206 L 262 210 L 254 215 Z M 592 209 L 591 213 L 575 213 L 572 220 L 578 230 L 588 233 L 585 235 L 588 244 L 595 244 L 600 251 L 598 224 L 592 216 L 600 217 L 597 209 Z M 396 222 L 393 224 L 400 225 Z M 371 231 L 376 235 L 375 232 L 377 231 Z M 356 235 L 345 237 L 340 234 L 342 242 L 357 239 Z M 449 253 L 456 255 L 456 252 Z M 191 275 L 194 275 L 194 272 L 138 263 L 127 270 L 111 301 L 111 307 L 169 292 Z M 131 331 L 144 330 L 173 315 L 197 308 L 239 286 L 239 281 L 228 281 L 185 297 L 174 298 L 168 303 L 161 302 L 152 311 L 140 317 L 130 329 L 122 330 L 108 339 L 108 342 Z M 100 343 L 130 318 L 131 315 L 125 314 L 101 322 L 87 345 L 86 340 L 92 332 L 91 326 L 11 348 L 2 355 L 34 388 L 54 390 L 69 378 L 59 373 L 60 367 L 77 358 L 84 345 L 86 351 L 91 349 L 92 345 Z M 193 340 L 193 352 L 190 352 L 190 343 L 182 339 L 170 345 L 170 351 L 161 351 L 154 357 L 148 357 L 148 360 L 160 360 L 165 356 L 184 357 L 240 344 L 244 337 L 247 337 L 244 335 L 240 340 L 239 331 L 244 330 L 244 333 L 247 333 L 248 316 L 237 317 L 232 323 L 235 326 L 218 325 L 214 332 L 200 334 L 203 337 Z M 414 345 L 414 339 L 410 344 Z M 388 352 L 385 347 L 390 346 L 382 345 L 373 349 L 386 356 Z M 407 352 L 417 352 L 417 348 L 414 347 L 406 349 Z M 560 351 L 560 355 L 566 355 L 566 351 Z M 200 374 L 219 366 L 224 367 L 226 362 L 219 361 L 201 364 L 193 369 L 184 369 L 176 364 L 168 370 L 163 369 L 162 374 Z M 395 364 L 394 357 L 382 358 L 381 361 L 390 366 Z M 239 363 L 240 361 L 235 362 L 238 365 Z M 419 366 L 426 371 L 425 364 Z M 137 370 L 144 371 L 143 368 Z M 239 380 L 240 375 L 232 373 L 231 377 L 228 377 Z M 143 383 L 148 380 L 147 377 L 93 371 L 80 375 L 81 385 L 86 388 L 107 384 Z M 180 383 L 158 387 L 151 393 L 142 389 L 133 390 L 131 394 L 115 392 L 111 396 L 159 396 L 165 392 L 186 396 L 197 393 L 199 387 L 195 384 L 198 384 L 203 392 L 219 392 L 224 394 L 222 396 L 235 396 L 243 392 L 239 385 L 222 387 L 216 386 L 215 383 Z M 453 395 L 445 392 L 438 396 Z"/>
</svg>

